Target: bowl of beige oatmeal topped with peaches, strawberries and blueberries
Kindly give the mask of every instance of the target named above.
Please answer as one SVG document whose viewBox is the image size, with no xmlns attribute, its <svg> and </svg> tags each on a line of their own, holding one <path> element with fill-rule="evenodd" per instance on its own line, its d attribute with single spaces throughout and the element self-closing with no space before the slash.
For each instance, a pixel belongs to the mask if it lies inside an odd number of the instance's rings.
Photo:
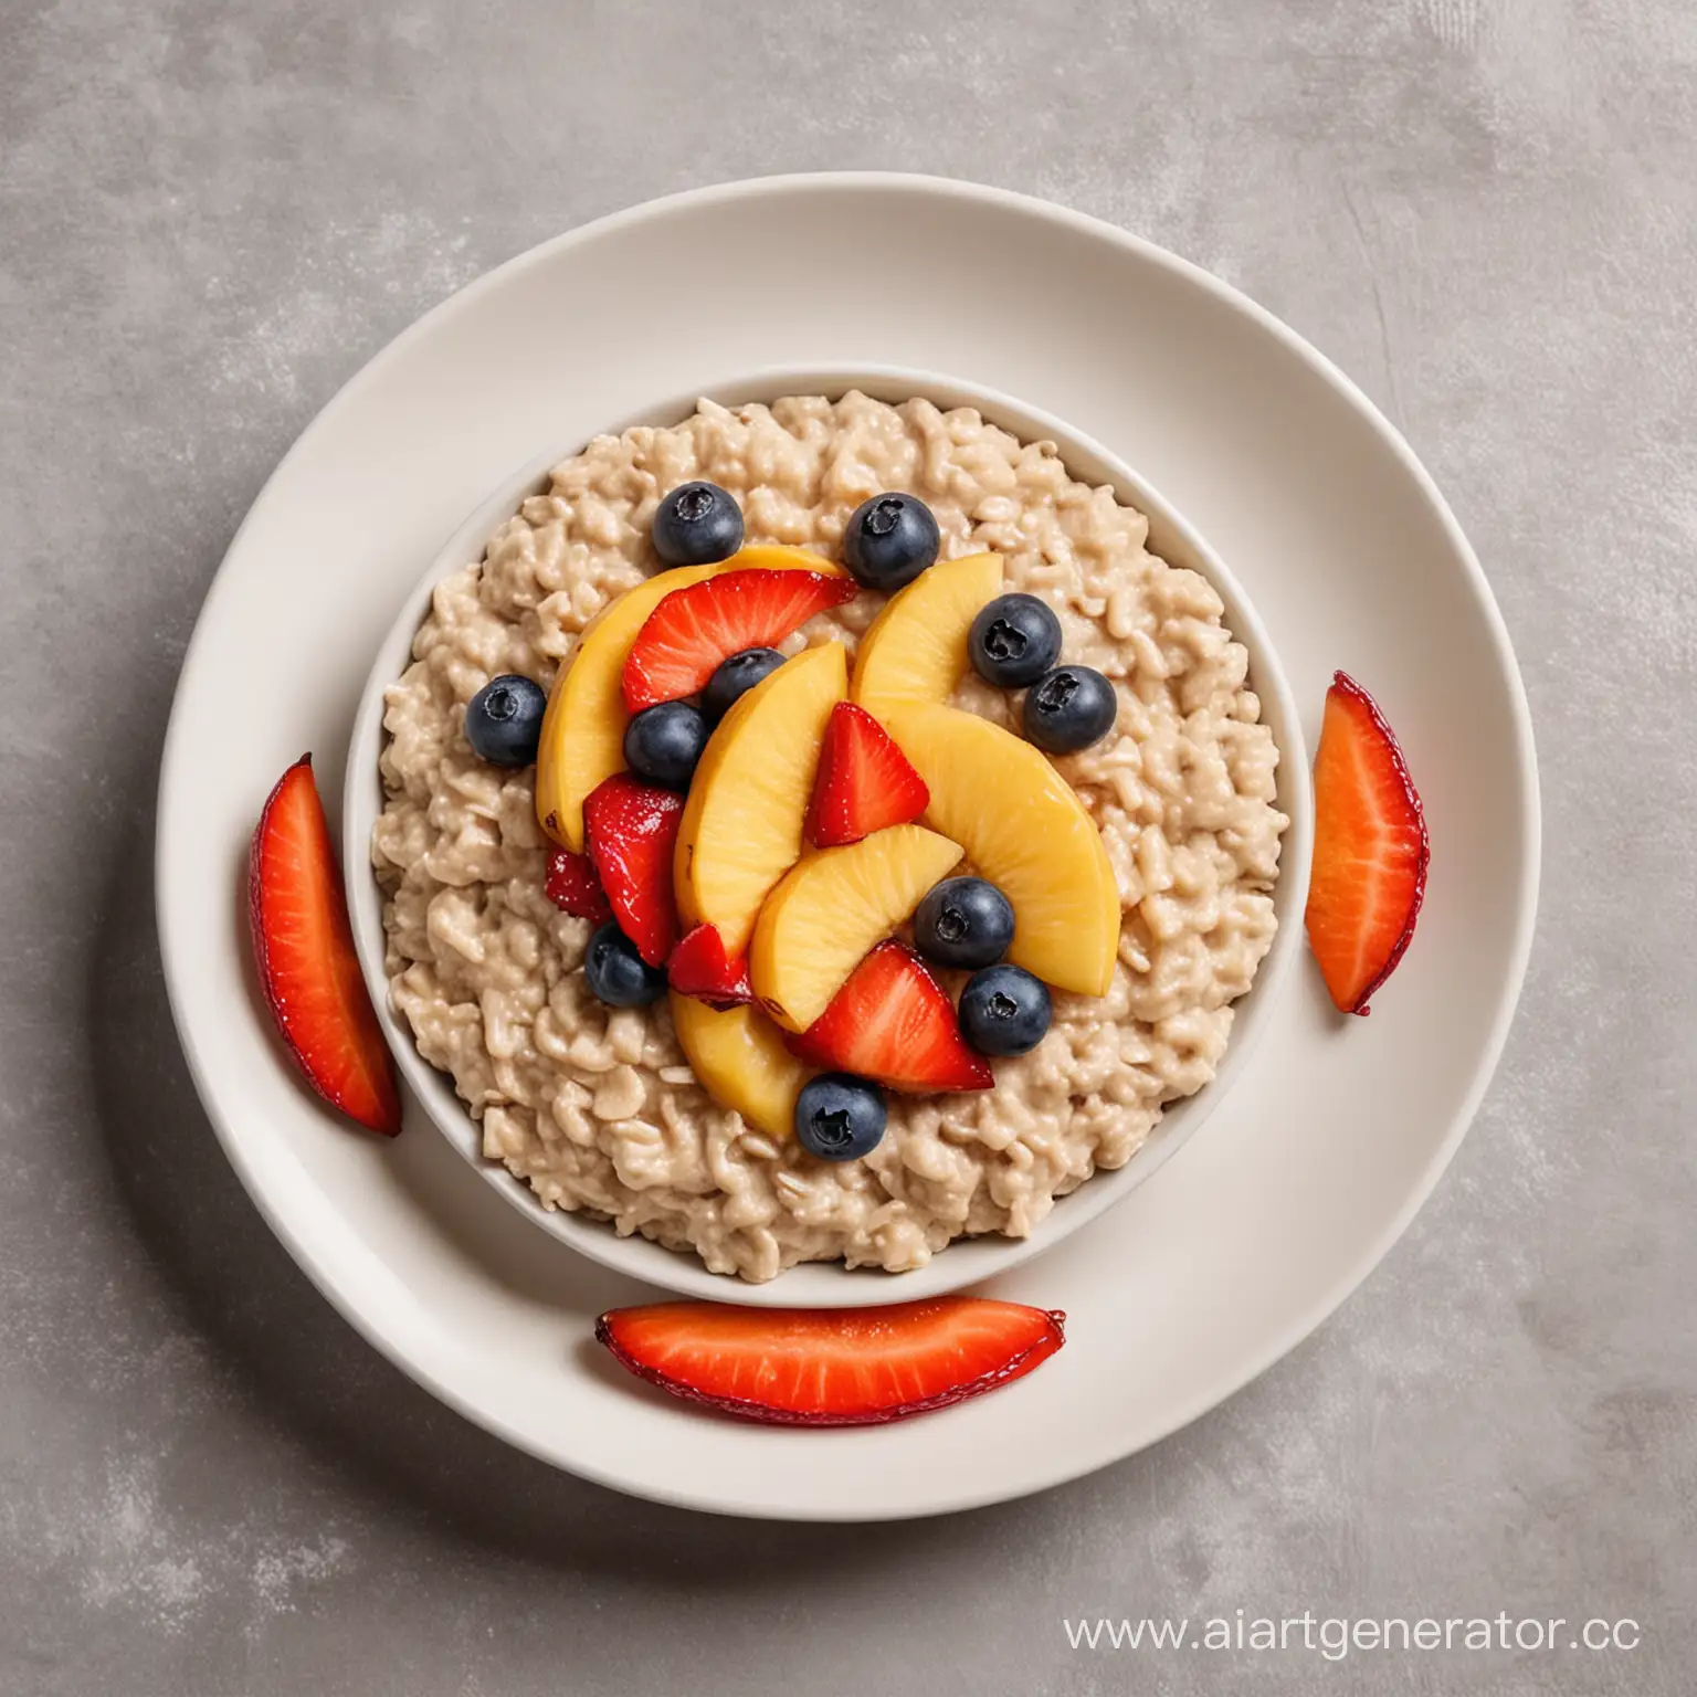
<svg viewBox="0 0 1697 1697">
<path fill-rule="evenodd" d="M 1057 421 L 898 373 L 721 394 L 516 482 L 404 609 L 355 937 L 431 1117 L 574 1247 L 935 1295 L 1241 1067 L 1300 933 L 1300 730 L 1224 567 Z"/>
</svg>

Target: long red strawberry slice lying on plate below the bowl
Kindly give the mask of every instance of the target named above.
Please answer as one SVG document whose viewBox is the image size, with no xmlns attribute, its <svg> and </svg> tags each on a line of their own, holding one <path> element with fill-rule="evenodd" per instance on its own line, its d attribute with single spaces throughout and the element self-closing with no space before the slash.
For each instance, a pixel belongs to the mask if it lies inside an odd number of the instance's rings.
<svg viewBox="0 0 1697 1697">
<path fill-rule="evenodd" d="M 1066 1315 L 984 1297 L 882 1308 L 613 1308 L 601 1339 L 674 1397 L 777 1425 L 877 1425 L 1023 1378 L 1066 1342 Z"/>
</svg>

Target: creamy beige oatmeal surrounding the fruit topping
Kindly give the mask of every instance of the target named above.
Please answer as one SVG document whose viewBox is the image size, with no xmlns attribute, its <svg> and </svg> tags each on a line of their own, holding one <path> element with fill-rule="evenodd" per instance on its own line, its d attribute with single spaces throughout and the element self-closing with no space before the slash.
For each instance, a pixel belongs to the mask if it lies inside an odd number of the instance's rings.
<svg viewBox="0 0 1697 1697">
<path fill-rule="evenodd" d="M 1100 832 L 1123 910 L 1106 994 L 1057 991 L 1047 1035 L 996 1061 L 993 1089 L 891 1095 L 882 1140 L 857 1161 L 813 1159 L 720 1106 L 665 1001 L 613 1008 L 589 993 L 594 927 L 545 894 L 531 769 L 480 762 L 462 728 L 499 674 L 550 686 L 589 621 L 652 575 L 655 504 L 691 479 L 736 497 L 750 543 L 832 560 L 869 496 L 918 496 L 940 558 L 998 553 L 1005 589 L 1047 602 L 1067 660 L 1118 696 L 1105 740 L 1054 762 Z M 1220 1064 L 1232 1003 L 1273 942 L 1286 826 L 1247 652 L 1212 585 L 1145 538 L 1142 514 L 1074 482 L 1054 445 L 927 400 L 703 402 L 682 424 L 599 436 L 557 467 L 484 560 L 438 585 L 384 721 L 373 862 L 390 998 L 480 1122 L 489 1159 L 545 1207 L 747 1280 L 813 1259 L 903 1271 L 961 1235 L 1023 1237 L 1057 1196 L 1123 1166 L 1164 1105 Z M 860 594 L 782 647 L 838 640 L 852 653 L 882 604 Z M 954 706 L 1020 730 L 1018 697 L 972 672 Z"/>
</svg>

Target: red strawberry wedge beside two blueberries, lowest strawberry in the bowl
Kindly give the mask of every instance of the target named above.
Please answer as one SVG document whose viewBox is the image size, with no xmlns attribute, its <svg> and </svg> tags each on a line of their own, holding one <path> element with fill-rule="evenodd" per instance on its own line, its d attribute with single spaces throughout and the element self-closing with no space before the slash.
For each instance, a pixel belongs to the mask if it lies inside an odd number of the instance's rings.
<svg viewBox="0 0 1697 1697">
<path fill-rule="evenodd" d="M 809 1066 L 859 1073 L 916 1096 L 996 1083 L 989 1062 L 961 1035 L 942 984 L 894 938 L 879 944 L 830 1006 L 786 1042 Z"/>
</svg>

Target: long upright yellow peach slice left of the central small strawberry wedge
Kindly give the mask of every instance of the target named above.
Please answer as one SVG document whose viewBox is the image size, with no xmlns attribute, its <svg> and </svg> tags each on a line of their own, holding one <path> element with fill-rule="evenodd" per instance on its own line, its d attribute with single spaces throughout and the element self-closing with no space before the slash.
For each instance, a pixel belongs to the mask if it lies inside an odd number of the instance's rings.
<svg viewBox="0 0 1697 1697">
<path fill-rule="evenodd" d="M 677 837 L 687 925 L 716 925 L 742 954 L 772 886 L 801 854 L 820 743 L 848 686 L 842 643 L 808 648 L 755 684 L 720 721 L 689 786 Z"/>
</svg>

